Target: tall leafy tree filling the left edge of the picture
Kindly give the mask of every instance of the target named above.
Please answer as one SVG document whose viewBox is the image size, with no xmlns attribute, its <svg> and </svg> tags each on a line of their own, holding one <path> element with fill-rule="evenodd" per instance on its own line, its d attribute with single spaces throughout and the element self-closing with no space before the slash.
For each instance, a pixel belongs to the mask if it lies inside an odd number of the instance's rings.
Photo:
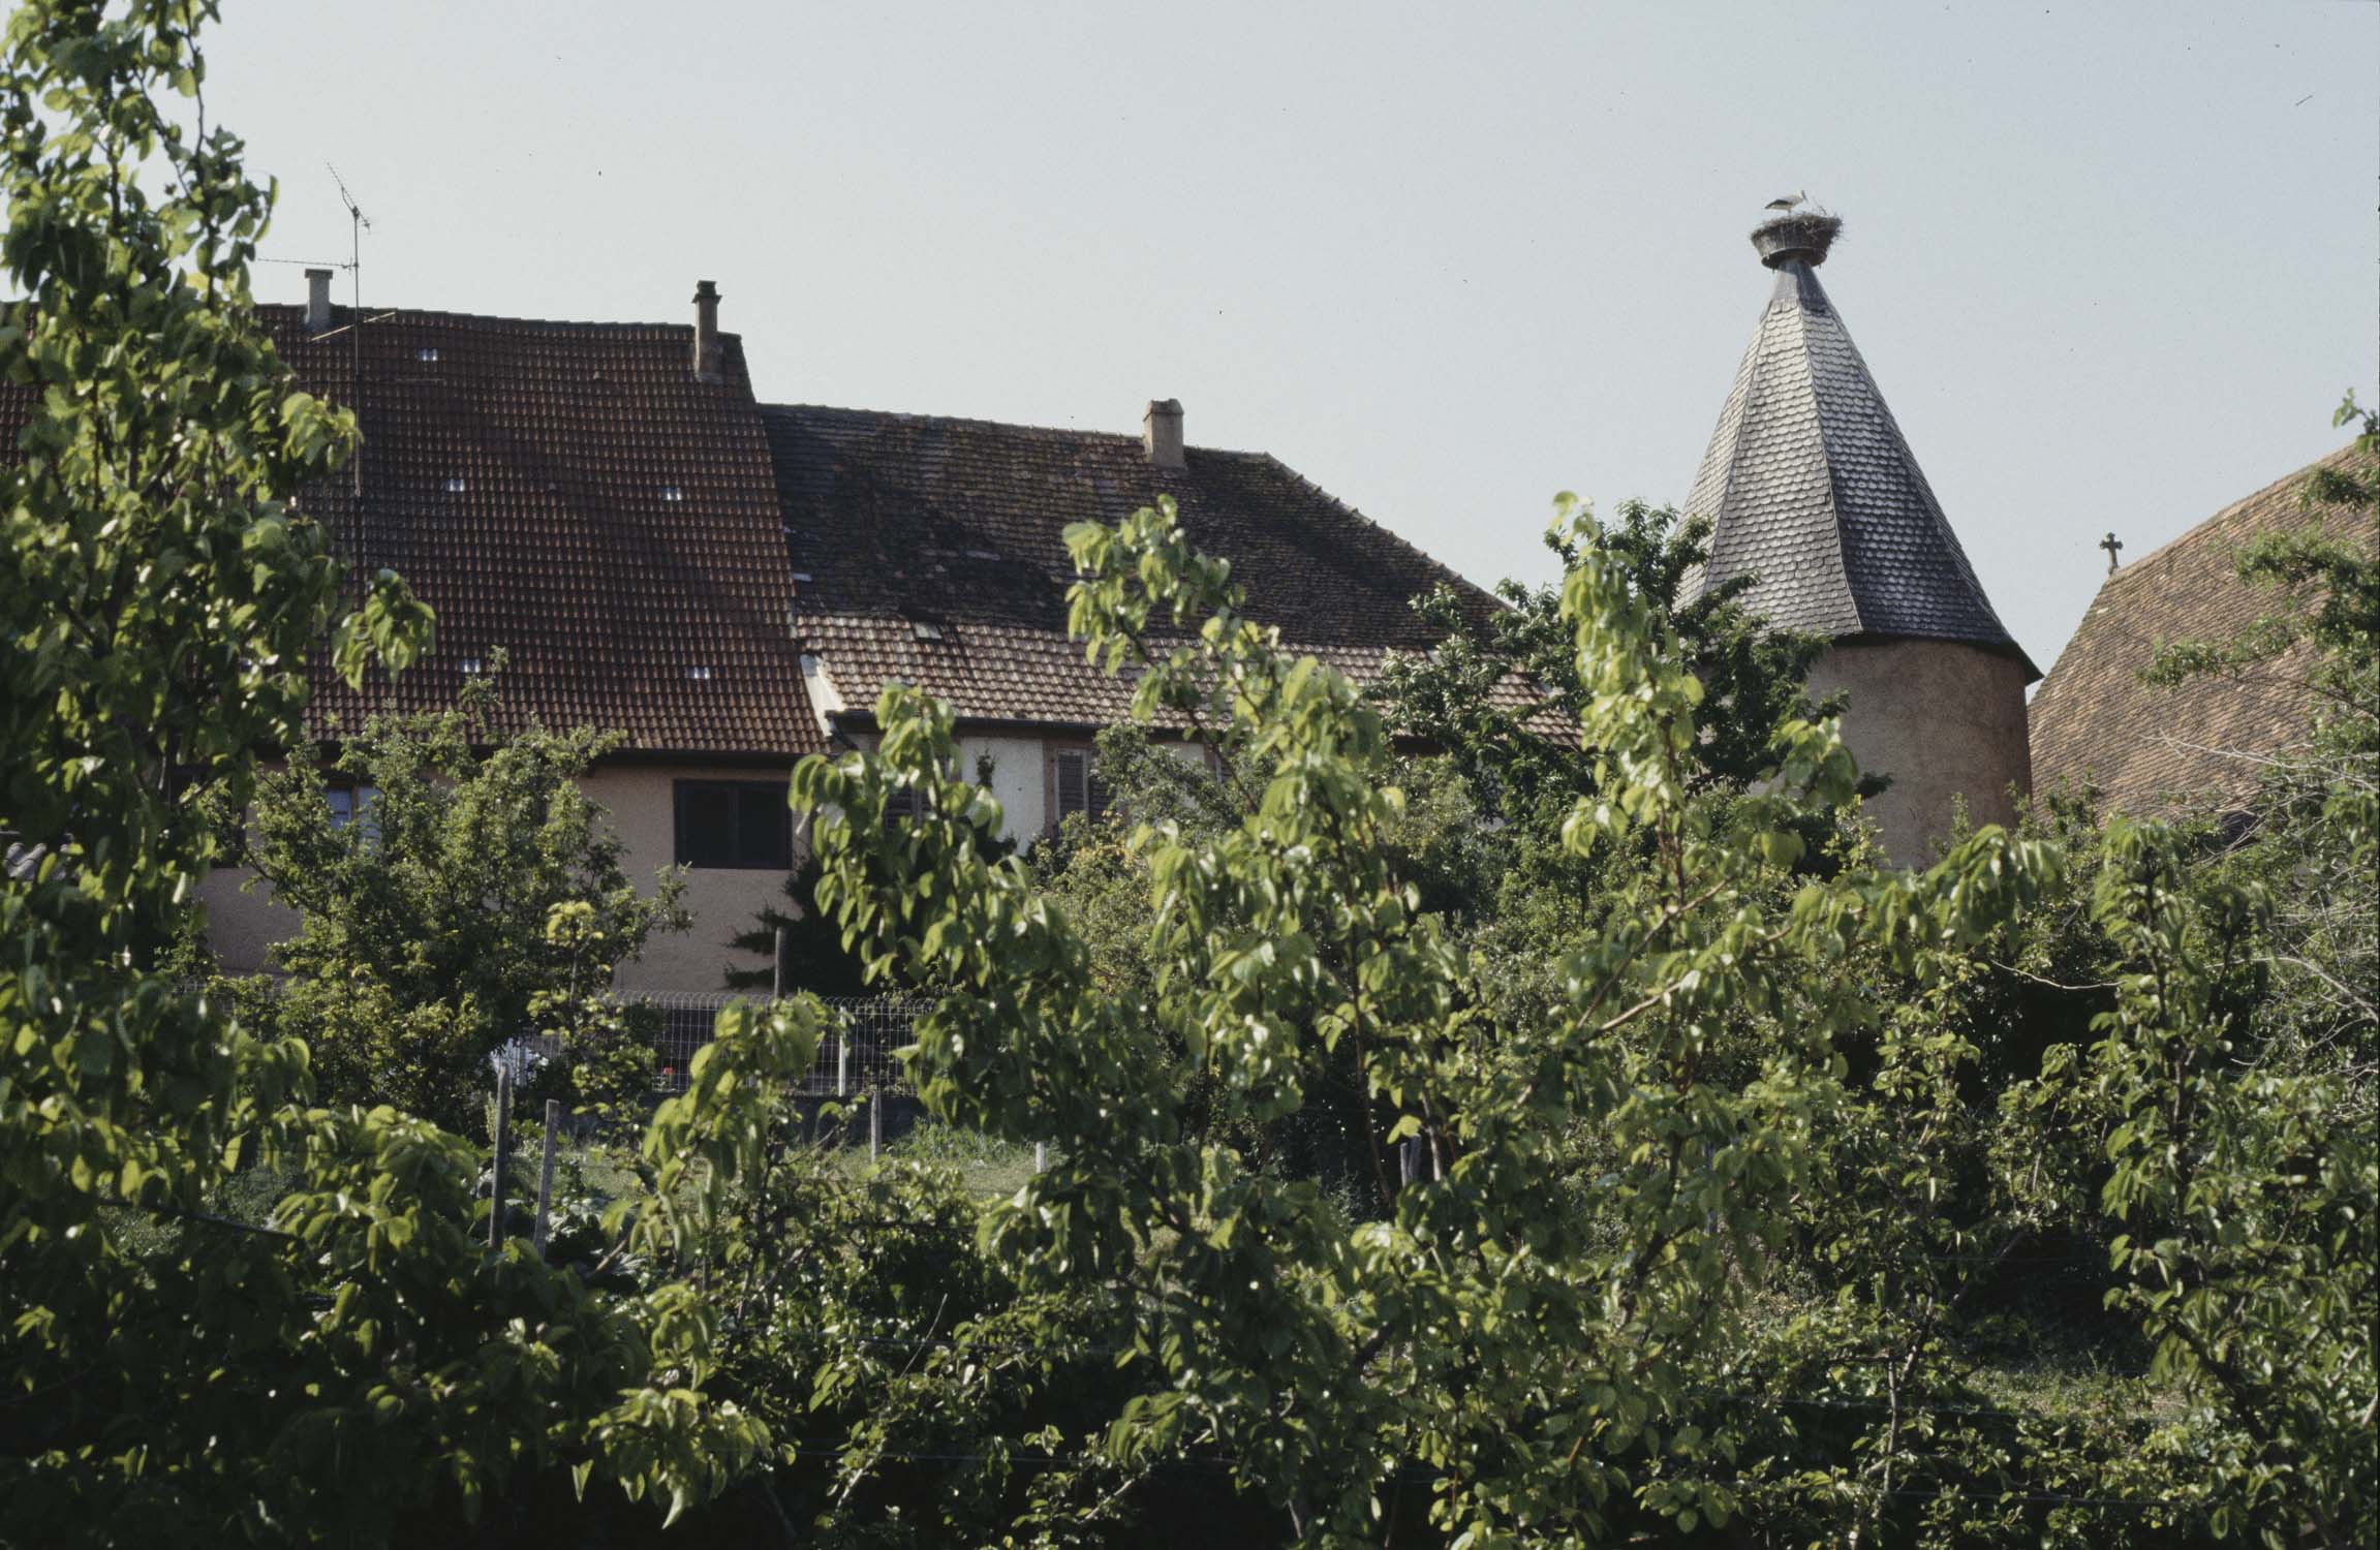
<svg viewBox="0 0 2380 1550">
<path fill-rule="evenodd" d="M 693 1288 L 607 1290 L 483 1248 L 478 1157 L 388 1107 L 312 1107 L 307 1050 L 176 971 L 262 750 L 302 748 L 307 662 L 402 667 L 381 574 L 340 617 L 290 502 L 352 421 L 293 390 L 248 262 L 269 193 L 207 124 L 205 0 L 26 0 L 0 43 L 0 1533 L 386 1543 L 595 1476 L 676 1505 L 764 1445 L 702 1393 Z M 807 1064 L 814 1017 L 728 1019 Z M 647 1255 L 726 1188 L 750 1119 L 652 1138 Z M 228 1214 L 245 1162 L 286 1181 Z M 633 1219 L 631 1219 L 633 1214 Z"/>
</svg>

